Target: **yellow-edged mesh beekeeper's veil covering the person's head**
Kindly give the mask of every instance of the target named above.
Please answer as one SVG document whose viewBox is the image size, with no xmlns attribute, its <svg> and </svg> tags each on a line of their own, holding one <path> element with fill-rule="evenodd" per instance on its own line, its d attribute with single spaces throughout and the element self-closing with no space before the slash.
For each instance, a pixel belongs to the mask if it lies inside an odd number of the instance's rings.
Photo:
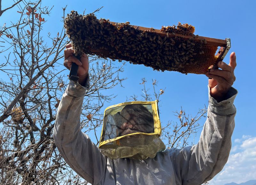
<svg viewBox="0 0 256 185">
<path fill-rule="evenodd" d="M 157 101 L 125 102 L 106 108 L 100 151 L 111 159 L 154 158 L 165 145 Z"/>
</svg>

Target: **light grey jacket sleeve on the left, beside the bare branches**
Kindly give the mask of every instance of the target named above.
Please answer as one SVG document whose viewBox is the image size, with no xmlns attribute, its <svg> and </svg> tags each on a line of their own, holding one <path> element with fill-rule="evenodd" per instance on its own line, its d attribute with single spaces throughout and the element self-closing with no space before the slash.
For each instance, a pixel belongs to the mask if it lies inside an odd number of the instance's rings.
<svg viewBox="0 0 256 185">
<path fill-rule="evenodd" d="M 89 88 L 87 81 L 87 89 Z M 106 157 L 80 129 L 80 114 L 86 87 L 70 80 L 59 104 L 54 124 L 55 144 L 68 165 L 92 184 L 106 171 Z"/>
</svg>

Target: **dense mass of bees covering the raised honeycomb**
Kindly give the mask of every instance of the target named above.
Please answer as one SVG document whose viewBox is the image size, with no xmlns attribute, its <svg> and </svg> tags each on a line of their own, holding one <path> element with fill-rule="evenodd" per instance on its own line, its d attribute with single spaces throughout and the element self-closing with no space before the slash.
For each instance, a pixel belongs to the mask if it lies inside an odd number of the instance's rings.
<svg viewBox="0 0 256 185">
<path fill-rule="evenodd" d="M 81 15 L 71 11 L 64 24 L 76 55 L 82 53 L 143 64 L 158 71 L 203 74 L 216 62 L 217 46 L 195 39 L 195 27 L 179 23 L 162 26 L 165 36 L 154 28 L 141 30 L 129 22 L 112 23 L 94 14 Z M 176 35 L 177 34 L 177 35 Z M 179 35 L 179 36 L 178 36 Z M 180 35 L 190 35 L 184 38 Z"/>
</svg>

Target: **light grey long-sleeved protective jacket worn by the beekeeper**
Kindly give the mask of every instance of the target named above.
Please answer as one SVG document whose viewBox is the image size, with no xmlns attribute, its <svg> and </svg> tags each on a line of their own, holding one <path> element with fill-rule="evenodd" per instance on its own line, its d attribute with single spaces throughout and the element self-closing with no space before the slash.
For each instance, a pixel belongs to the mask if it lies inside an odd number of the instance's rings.
<svg viewBox="0 0 256 185">
<path fill-rule="evenodd" d="M 90 183 L 199 185 L 211 180 L 226 164 L 235 126 L 237 91 L 233 87 L 227 100 L 220 103 L 209 93 L 208 114 L 196 145 L 166 149 L 145 160 L 109 159 L 81 131 L 81 107 L 88 88 L 88 83 L 82 87 L 69 82 L 60 101 L 53 138 L 68 165 Z"/>
</svg>

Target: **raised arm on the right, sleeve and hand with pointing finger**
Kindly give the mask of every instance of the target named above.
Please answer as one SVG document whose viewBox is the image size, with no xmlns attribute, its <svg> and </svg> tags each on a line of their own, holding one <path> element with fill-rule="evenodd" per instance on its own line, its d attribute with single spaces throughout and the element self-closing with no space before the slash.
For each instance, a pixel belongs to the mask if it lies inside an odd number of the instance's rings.
<svg viewBox="0 0 256 185">
<path fill-rule="evenodd" d="M 170 149 L 170 157 L 178 184 L 199 185 L 211 180 L 226 164 L 231 149 L 231 135 L 235 127 L 237 91 L 235 81 L 236 55 L 230 63 L 219 62 L 221 69 L 206 73 L 209 79 L 209 107 L 207 120 L 198 144 L 183 149 Z"/>
</svg>

